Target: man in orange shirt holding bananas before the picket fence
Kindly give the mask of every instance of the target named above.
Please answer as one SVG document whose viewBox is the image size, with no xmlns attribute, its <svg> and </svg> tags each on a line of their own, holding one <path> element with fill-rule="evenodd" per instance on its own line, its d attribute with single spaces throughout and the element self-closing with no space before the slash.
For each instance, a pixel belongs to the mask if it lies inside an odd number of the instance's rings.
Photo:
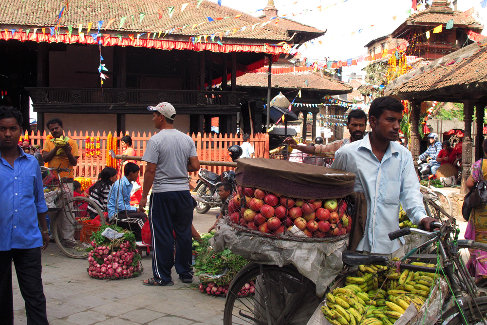
<svg viewBox="0 0 487 325">
<path fill-rule="evenodd" d="M 69 168 L 71 172 L 60 172 L 60 177 L 74 178 L 74 166 L 78 163 L 78 145 L 73 139 L 68 139 L 68 144 L 64 147 L 56 147 L 54 139 L 64 136 L 64 128 L 62 121 L 59 118 L 52 118 L 46 123 L 47 128 L 51 132 L 51 137 L 48 137 L 44 142 L 42 150 L 42 158 L 44 162 L 49 163 L 51 168 Z"/>
</svg>

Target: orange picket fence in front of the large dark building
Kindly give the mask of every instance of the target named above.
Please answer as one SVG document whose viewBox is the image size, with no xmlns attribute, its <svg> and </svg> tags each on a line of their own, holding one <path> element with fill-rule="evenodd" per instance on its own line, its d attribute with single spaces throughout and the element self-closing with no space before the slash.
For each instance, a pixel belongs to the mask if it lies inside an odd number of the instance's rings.
<svg viewBox="0 0 487 325">
<path fill-rule="evenodd" d="M 27 133 L 27 132 L 26 132 Z M 115 134 L 115 133 L 114 133 Z M 79 158 L 78 164 L 75 167 L 75 177 L 90 177 L 92 180 L 96 181 L 98 177 L 98 173 L 105 168 L 106 164 L 106 156 L 107 156 L 107 138 L 108 134 L 103 132 L 100 134 L 97 132 L 88 133 L 88 132 L 79 132 L 76 131 L 72 134 L 71 131 L 68 131 L 65 135 L 69 138 L 75 140 L 78 144 L 79 148 Z M 120 148 L 120 139 L 124 134 L 120 133 L 117 135 L 117 143 L 118 143 L 118 153 L 121 153 Z M 140 132 L 135 134 L 132 132 L 132 147 L 135 150 L 135 155 L 142 156 L 144 154 L 145 148 L 147 146 L 147 142 L 150 139 L 151 133 L 146 134 L 145 132 L 141 135 Z M 94 155 L 87 154 L 85 141 L 87 136 L 94 136 L 95 142 L 96 137 L 100 137 L 100 154 Z M 115 136 L 115 135 L 113 135 Z M 29 141 L 32 145 L 40 145 L 41 147 L 44 145 L 44 141 L 47 137 L 46 132 L 44 131 L 43 134 L 40 134 L 39 131 L 34 133 L 34 131 L 29 134 Z M 192 134 L 192 139 L 196 146 L 196 152 L 198 153 L 198 158 L 200 160 L 211 160 L 211 161 L 231 161 L 228 155 L 228 147 L 234 144 L 242 144 L 242 138 L 238 134 Z M 255 156 L 256 157 L 264 157 L 269 158 L 269 135 L 268 134 L 254 134 L 249 139 L 250 143 L 254 146 L 255 149 Z M 141 169 L 141 177 L 144 175 L 144 168 L 146 166 L 146 162 L 141 161 L 139 163 Z M 56 166 L 51 166 L 56 167 Z M 229 170 L 229 167 L 223 166 L 202 166 L 203 168 L 207 168 L 212 172 L 216 172 L 218 174 L 222 173 L 225 170 Z M 192 172 L 191 176 L 195 177 L 197 172 Z"/>
</svg>

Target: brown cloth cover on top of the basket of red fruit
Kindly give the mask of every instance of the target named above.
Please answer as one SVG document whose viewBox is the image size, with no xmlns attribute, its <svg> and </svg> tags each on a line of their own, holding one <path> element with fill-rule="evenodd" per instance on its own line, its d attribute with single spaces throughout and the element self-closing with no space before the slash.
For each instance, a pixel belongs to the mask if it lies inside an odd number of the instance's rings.
<svg viewBox="0 0 487 325">
<path fill-rule="evenodd" d="M 236 174 L 237 182 L 244 187 L 308 200 L 354 193 L 354 173 L 285 160 L 241 158 Z"/>
</svg>

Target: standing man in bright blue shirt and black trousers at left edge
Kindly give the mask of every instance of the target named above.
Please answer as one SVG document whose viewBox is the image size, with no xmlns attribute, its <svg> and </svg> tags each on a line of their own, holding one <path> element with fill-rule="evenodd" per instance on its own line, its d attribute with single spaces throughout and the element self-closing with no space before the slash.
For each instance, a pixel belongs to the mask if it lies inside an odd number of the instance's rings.
<svg viewBox="0 0 487 325">
<path fill-rule="evenodd" d="M 25 300 L 27 324 L 49 324 L 42 287 L 41 248 L 49 245 L 46 201 L 37 159 L 17 144 L 22 115 L 0 107 L 0 315 L 14 324 L 12 261 Z M 39 230 L 39 225 L 41 230 Z"/>
</svg>

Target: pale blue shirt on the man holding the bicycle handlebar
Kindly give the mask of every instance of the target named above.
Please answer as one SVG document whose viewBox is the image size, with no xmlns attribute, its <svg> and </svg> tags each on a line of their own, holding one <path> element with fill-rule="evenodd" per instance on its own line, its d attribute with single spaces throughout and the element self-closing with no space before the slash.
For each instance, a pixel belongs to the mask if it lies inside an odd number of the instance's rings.
<svg viewBox="0 0 487 325">
<path fill-rule="evenodd" d="M 363 192 L 367 199 L 365 233 L 357 250 L 390 254 L 404 244 L 402 237 L 394 241 L 388 237 L 399 229 L 399 203 L 412 223 L 427 217 L 412 155 L 400 144 L 390 142 L 378 161 L 367 134 L 340 148 L 331 167 L 355 173 L 354 191 Z"/>
</svg>

